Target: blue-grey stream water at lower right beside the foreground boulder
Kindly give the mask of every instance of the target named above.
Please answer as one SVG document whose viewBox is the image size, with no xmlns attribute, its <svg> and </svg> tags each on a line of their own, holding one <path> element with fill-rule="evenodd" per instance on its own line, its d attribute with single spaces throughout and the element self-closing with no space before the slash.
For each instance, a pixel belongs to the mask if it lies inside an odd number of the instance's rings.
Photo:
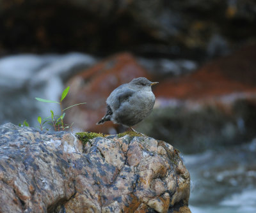
<svg viewBox="0 0 256 213">
<path fill-rule="evenodd" d="M 256 139 L 240 146 L 184 156 L 193 213 L 256 212 Z"/>
</svg>

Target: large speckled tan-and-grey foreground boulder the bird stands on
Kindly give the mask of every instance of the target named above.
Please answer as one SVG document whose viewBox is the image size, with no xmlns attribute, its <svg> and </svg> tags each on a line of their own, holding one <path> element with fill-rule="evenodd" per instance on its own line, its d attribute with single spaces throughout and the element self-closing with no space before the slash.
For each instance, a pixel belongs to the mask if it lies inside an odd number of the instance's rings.
<svg viewBox="0 0 256 213">
<path fill-rule="evenodd" d="M 189 173 L 172 145 L 0 126 L 0 212 L 190 212 Z"/>
</svg>

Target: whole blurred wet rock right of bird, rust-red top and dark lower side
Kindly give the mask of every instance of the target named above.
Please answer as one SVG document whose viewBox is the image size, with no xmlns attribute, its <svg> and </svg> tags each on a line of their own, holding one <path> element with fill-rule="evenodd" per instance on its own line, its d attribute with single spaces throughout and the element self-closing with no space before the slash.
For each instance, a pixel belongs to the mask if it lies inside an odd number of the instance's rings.
<svg viewBox="0 0 256 213">
<path fill-rule="evenodd" d="M 166 78 L 155 88 L 155 110 L 138 130 L 198 152 L 255 137 L 256 46 Z M 186 145 L 185 145 L 186 144 Z"/>
</svg>

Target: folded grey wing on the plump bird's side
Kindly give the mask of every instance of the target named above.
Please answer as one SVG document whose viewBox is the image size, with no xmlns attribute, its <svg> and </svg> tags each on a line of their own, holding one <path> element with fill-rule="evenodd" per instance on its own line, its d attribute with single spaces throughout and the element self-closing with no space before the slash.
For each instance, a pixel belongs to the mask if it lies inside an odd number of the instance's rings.
<svg viewBox="0 0 256 213">
<path fill-rule="evenodd" d="M 127 101 L 133 94 L 134 90 L 129 87 L 118 87 L 108 97 L 107 103 L 111 108 L 118 109 L 120 105 Z"/>
</svg>

